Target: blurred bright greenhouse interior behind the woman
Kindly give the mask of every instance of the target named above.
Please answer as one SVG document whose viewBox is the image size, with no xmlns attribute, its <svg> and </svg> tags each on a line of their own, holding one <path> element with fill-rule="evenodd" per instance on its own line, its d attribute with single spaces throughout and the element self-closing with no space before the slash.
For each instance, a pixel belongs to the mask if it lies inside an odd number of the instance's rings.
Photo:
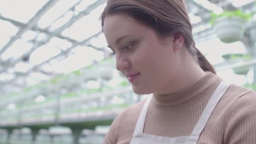
<svg viewBox="0 0 256 144">
<path fill-rule="evenodd" d="M 255 89 L 255 0 L 184 1 L 217 74 Z M 106 2 L 0 0 L 0 144 L 101 144 L 146 97 L 115 69 L 99 21 Z"/>
</svg>

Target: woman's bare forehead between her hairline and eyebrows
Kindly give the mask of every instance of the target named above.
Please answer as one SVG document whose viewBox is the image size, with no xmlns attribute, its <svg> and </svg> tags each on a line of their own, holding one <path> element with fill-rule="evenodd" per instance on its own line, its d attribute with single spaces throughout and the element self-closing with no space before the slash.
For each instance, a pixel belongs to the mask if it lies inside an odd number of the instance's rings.
<svg viewBox="0 0 256 144">
<path fill-rule="evenodd" d="M 104 35 L 108 43 L 117 40 L 123 35 L 143 35 L 150 30 L 127 14 L 107 15 L 104 20 Z"/>
</svg>

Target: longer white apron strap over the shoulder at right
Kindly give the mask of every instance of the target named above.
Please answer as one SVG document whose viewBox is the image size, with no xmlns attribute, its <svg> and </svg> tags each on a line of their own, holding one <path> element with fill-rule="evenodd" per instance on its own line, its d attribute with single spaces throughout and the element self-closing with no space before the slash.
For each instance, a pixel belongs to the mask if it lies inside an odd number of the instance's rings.
<svg viewBox="0 0 256 144">
<path fill-rule="evenodd" d="M 211 113 L 213 112 L 213 109 L 218 104 L 221 97 L 224 95 L 224 93 L 227 91 L 227 88 L 229 88 L 229 85 L 227 82 L 222 81 L 216 90 L 213 92 L 213 95 L 208 101 L 208 104 L 205 106 L 205 109 L 203 110 L 202 115 L 200 116 L 199 120 L 197 121 L 197 124 L 195 125 L 195 128 L 193 129 L 191 136 L 199 136 L 200 133 L 203 131 L 203 128 L 205 127 L 206 123 L 208 122 Z"/>
</svg>

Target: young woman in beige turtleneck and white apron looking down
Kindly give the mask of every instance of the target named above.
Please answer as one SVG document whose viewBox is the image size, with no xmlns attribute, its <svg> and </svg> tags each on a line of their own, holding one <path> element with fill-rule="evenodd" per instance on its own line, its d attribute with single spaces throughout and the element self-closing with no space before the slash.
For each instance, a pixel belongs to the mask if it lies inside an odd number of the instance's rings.
<svg viewBox="0 0 256 144">
<path fill-rule="evenodd" d="M 101 24 L 134 93 L 153 93 L 115 118 L 104 144 L 256 144 L 256 92 L 216 75 L 182 0 L 109 0 Z"/>
</svg>

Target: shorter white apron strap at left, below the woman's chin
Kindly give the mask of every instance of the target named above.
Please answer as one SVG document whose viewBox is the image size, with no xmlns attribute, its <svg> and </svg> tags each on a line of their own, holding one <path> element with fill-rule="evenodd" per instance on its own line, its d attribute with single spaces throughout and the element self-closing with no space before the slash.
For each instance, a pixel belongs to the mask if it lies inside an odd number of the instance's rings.
<svg viewBox="0 0 256 144">
<path fill-rule="evenodd" d="M 152 95 L 148 96 L 145 104 L 143 105 L 143 108 L 141 109 L 141 113 L 139 115 L 138 121 L 136 123 L 136 127 L 134 129 L 134 133 L 142 133 L 144 128 L 144 123 L 147 115 L 147 109 L 149 107 L 149 103 L 152 99 Z"/>
</svg>

